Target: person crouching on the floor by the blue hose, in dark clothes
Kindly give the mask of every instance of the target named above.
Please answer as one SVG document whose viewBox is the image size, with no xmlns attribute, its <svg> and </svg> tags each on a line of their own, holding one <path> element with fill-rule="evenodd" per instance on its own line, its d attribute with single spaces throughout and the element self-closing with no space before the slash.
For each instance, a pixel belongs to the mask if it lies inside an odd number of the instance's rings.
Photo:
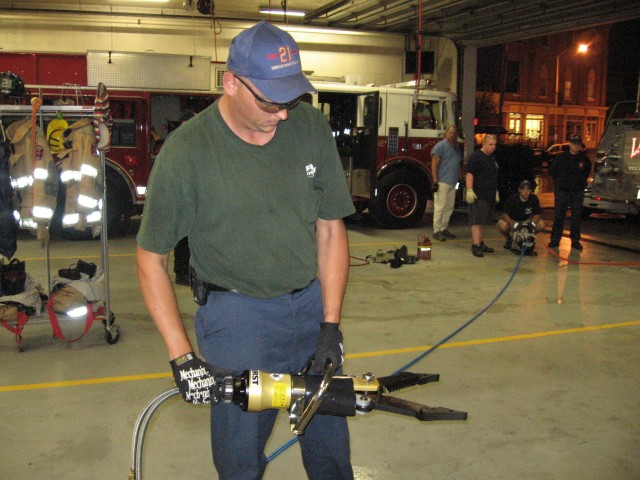
<svg viewBox="0 0 640 480">
<path fill-rule="evenodd" d="M 513 246 L 513 228 L 517 223 L 533 223 L 535 233 L 544 230 L 545 223 L 540 210 L 538 196 L 529 180 L 522 180 L 518 193 L 512 194 L 504 204 L 502 217 L 498 220 L 498 230 L 506 237 L 504 248 L 511 250 Z"/>
</svg>

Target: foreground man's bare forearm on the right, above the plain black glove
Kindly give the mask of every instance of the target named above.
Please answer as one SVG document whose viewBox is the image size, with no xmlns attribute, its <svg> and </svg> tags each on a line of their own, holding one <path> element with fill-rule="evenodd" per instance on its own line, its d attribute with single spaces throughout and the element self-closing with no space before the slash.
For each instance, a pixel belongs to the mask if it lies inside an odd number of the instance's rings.
<svg viewBox="0 0 640 480">
<path fill-rule="evenodd" d="M 349 279 L 349 240 L 342 220 L 318 220 L 318 277 L 322 287 L 324 320 L 340 323 Z"/>
</svg>

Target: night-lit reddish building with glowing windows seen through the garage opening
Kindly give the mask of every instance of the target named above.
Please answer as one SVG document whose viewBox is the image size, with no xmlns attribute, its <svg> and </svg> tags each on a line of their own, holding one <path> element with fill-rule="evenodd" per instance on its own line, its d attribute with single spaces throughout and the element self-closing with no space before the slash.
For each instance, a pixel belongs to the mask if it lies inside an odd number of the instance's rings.
<svg viewBox="0 0 640 480">
<path fill-rule="evenodd" d="M 477 131 L 546 148 L 580 134 L 595 148 L 604 129 L 609 25 L 478 50 Z M 586 52 L 579 52 L 583 45 Z"/>
</svg>

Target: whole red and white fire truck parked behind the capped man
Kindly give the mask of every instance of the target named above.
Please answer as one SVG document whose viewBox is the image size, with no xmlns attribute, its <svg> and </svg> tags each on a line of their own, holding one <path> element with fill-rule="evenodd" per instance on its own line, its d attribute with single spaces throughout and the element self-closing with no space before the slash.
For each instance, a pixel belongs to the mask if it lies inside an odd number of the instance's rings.
<svg viewBox="0 0 640 480">
<path fill-rule="evenodd" d="M 87 87 L 84 55 L 2 52 L 0 71 L 19 75 L 27 97 L 39 95 L 45 105 L 93 105 L 95 88 Z M 358 212 L 368 209 L 386 228 L 415 225 L 431 197 L 431 148 L 449 125 L 458 125 L 456 96 L 408 84 L 313 83 L 318 93 L 311 102 L 331 125 Z M 218 96 L 109 88 L 114 122 L 106 157 L 110 231 L 141 212 L 155 155 L 182 113 L 198 112 Z"/>
</svg>

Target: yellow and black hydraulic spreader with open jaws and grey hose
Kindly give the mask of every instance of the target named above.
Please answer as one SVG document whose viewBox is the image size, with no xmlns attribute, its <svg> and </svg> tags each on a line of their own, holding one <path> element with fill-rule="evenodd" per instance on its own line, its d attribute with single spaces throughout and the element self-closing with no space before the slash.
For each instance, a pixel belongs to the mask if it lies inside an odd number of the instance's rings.
<svg viewBox="0 0 640 480">
<path fill-rule="evenodd" d="M 300 373 L 267 373 L 247 370 L 224 377 L 212 388 L 212 403 L 233 403 L 248 412 L 287 409 L 291 431 L 302 435 L 314 415 L 354 416 L 372 410 L 407 415 L 420 421 L 466 420 L 467 412 L 419 403 L 386 395 L 414 385 L 437 382 L 438 374 L 402 372 L 376 378 L 333 375 L 333 364 L 325 364 L 323 375 L 309 375 L 311 361 Z M 179 395 L 173 388 L 155 397 L 142 411 L 133 432 L 130 480 L 142 478 L 142 446 L 151 416 L 169 398 Z"/>
</svg>

